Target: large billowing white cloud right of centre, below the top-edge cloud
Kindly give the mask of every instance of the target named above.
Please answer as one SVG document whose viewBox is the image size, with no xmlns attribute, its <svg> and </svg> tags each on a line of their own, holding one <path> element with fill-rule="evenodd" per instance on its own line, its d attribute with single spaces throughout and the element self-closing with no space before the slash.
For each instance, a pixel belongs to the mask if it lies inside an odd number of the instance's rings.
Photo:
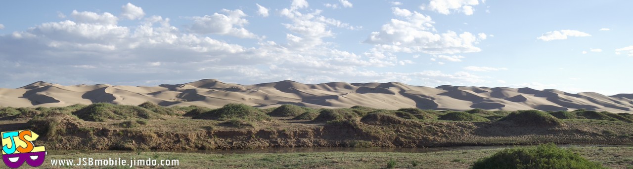
<svg viewBox="0 0 633 169">
<path fill-rule="evenodd" d="M 374 44 L 375 49 L 386 52 L 456 54 L 481 50 L 474 46 L 483 40 L 481 35 L 453 31 L 434 33 L 435 22 L 430 16 L 398 7 L 392 8 L 392 13 L 404 20 L 391 19 L 382 25 L 380 32 L 372 32 L 365 43 Z"/>
</svg>

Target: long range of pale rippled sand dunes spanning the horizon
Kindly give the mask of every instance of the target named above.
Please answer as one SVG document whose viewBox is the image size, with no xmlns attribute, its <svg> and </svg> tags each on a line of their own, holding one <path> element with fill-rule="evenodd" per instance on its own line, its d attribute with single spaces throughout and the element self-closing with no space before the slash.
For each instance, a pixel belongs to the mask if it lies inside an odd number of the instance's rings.
<svg viewBox="0 0 633 169">
<path fill-rule="evenodd" d="M 565 93 L 532 88 L 487 88 L 442 85 L 437 88 L 389 83 L 321 83 L 308 85 L 279 81 L 256 85 L 203 79 L 159 86 L 73 85 L 37 81 L 16 89 L 0 88 L 0 106 L 60 107 L 76 103 L 108 102 L 139 105 L 221 107 L 245 103 L 254 107 L 294 104 L 315 108 L 366 107 L 398 109 L 418 107 L 436 110 L 587 110 L 633 112 L 633 94 L 605 96 L 599 93 Z"/>
</svg>

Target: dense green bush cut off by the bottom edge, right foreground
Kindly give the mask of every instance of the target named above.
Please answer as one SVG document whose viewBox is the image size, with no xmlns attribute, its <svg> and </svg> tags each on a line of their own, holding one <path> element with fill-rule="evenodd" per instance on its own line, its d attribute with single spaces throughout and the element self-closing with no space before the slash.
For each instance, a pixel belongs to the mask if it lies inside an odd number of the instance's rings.
<svg viewBox="0 0 633 169">
<path fill-rule="evenodd" d="M 475 161 L 472 168 L 605 168 L 577 153 L 541 144 L 536 148 L 511 148 Z"/>
</svg>

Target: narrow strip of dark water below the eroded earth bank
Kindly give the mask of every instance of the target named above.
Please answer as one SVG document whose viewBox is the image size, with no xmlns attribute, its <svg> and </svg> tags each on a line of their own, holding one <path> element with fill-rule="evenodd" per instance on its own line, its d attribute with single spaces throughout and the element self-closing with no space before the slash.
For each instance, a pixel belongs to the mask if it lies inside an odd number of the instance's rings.
<svg viewBox="0 0 633 169">
<path fill-rule="evenodd" d="M 323 152 L 379 152 L 379 153 L 432 153 L 439 151 L 462 151 L 477 149 L 503 149 L 519 146 L 462 146 L 462 147 L 441 147 L 441 148 L 265 148 L 265 149 L 216 149 L 200 151 L 155 151 L 171 153 L 204 153 L 204 154 L 248 154 L 248 153 L 323 153 Z M 561 148 L 572 147 L 632 147 L 624 145 L 592 145 L 592 144 L 560 144 Z M 53 154 L 68 153 L 130 153 L 135 151 L 54 151 Z"/>
</svg>

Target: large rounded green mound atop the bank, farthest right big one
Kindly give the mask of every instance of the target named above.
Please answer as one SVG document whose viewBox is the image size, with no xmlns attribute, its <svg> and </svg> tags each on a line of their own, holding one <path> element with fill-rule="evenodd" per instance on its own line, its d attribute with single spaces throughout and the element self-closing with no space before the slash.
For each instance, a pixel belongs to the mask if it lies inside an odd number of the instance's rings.
<svg viewBox="0 0 633 169">
<path fill-rule="evenodd" d="M 560 119 L 541 112 L 539 110 L 525 110 L 512 112 L 511 114 L 503 117 L 499 121 L 511 122 L 513 124 L 522 125 L 525 127 L 539 127 L 539 126 L 562 126 L 565 125 Z"/>
</svg>

